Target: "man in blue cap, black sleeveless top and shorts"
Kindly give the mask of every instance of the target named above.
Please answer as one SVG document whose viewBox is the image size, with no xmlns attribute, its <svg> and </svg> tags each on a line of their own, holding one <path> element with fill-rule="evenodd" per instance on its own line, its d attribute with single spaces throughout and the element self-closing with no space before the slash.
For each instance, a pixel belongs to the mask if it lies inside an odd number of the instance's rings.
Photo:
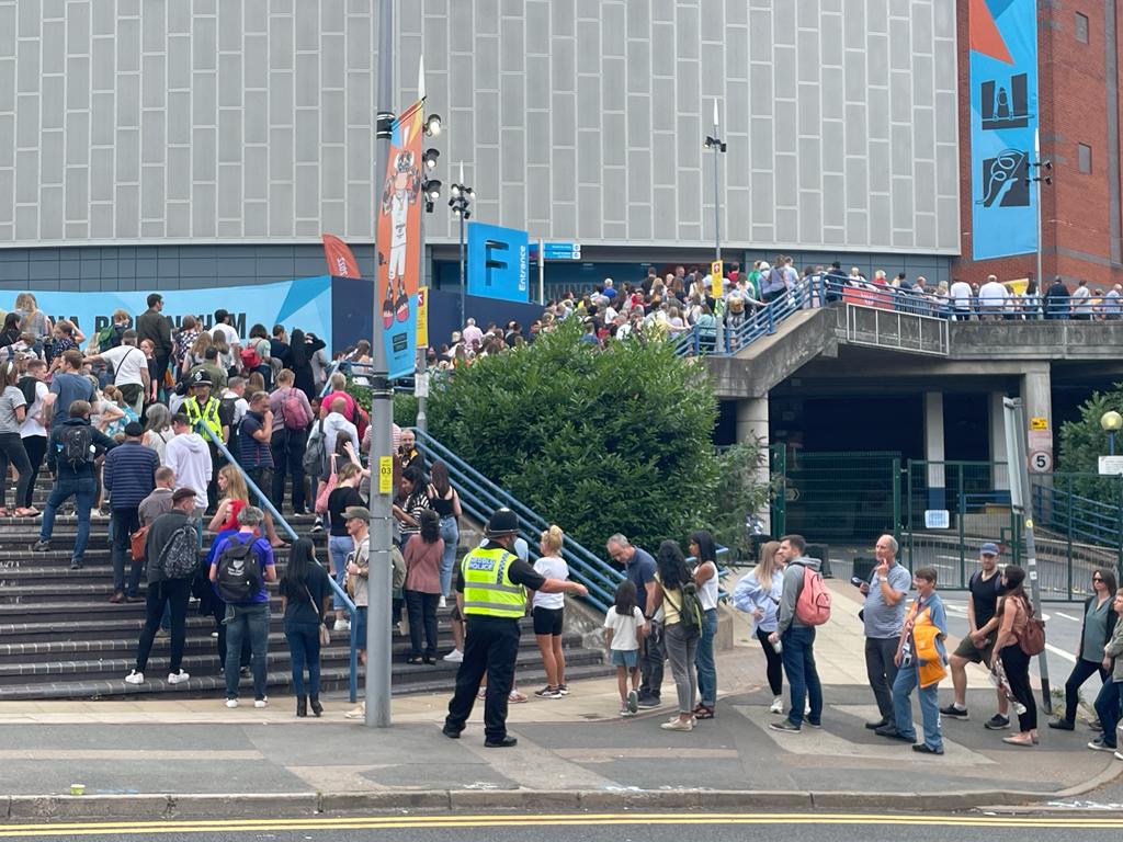
<svg viewBox="0 0 1123 842">
<path fill-rule="evenodd" d="M 955 720 L 970 719 L 967 714 L 967 665 L 990 666 L 994 639 L 998 633 L 998 597 L 1002 595 L 1002 574 L 998 570 L 998 544 L 984 543 L 979 548 L 980 569 L 971 576 L 968 588 L 971 598 L 967 602 L 967 637 L 951 656 L 951 684 L 955 701 L 940 713 Z M 998 693 L 998 713 L 983 723 L 984 727 L 1001 731 L 1010 727 L 1008 702 Z"/>
</svg>

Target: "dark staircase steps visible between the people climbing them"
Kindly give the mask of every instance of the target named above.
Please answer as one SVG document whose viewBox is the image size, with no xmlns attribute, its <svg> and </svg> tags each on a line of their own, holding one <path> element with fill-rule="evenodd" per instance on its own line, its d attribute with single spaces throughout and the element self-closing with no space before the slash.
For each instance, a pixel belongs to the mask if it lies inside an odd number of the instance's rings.
<svg viewBox="0 0 1123 842">
<path fill-rule="evenodd" d="M 43 509 L 49 484 L 40 479 L 36 507 Z M 311 518 L 293 518 L 293 528 L 305 534 Z M 10 518 L 0 520 L 0 701 L 30 698 L 137 697 L 152 694 L 186 694 L 192 697 L 221 697 L 225 683 L 219 672 L 214 623 L 200 616 L 192 600 L 188 612 L 188 641 L 183 669 L 191 674 L 185 684 L 171 687 L 168 641 L 157 638 L 146 670 L 147 680 L 127 685 L 124 677 L 136 659 L 137 640 L 144 624 L 144 603 L 111 604 L 112 565 L 108 543 L 108 520 L 94 520 L 85 565 L 70 569 L 76 519 L 73 514 L 56 519 L 48 552 L 33 553 L 30 544 L 38 536 L 39 521 Z M 471 530 L 465 530 L 466 534 Z M 327 558 L 325 534 L 314 536 L 321 561 Z M 204 537 L 209 546 L 210 536 Z M 462 547 L 462 551 L 467 546 Z M 287 550 L 277 551 L 277 574 L 284 573 Z M 281 623 L 281 600 L 271 602 L 268 686 L 271 694 L 287 693 L 290 685 L 289 648 Z M 143 593 L 143 588 L 141 588 Z M 404 612 L 403 612 L 404 614 Z M 440 655 L 451 648 L 448 610 L 439 617 Z M 404 620 L 404 616 L 403 616 Z M 403 623 L 404 625 L 404 623 Z M 605 674 L 602 653 L 583 649 L 579 632 L 564 639 L 568 674 L 573 678 Z M 393 637 L 394 693 L 450 689 L 457 665 L 438 661 L 437 666 L 407 665 L 409 635 Z M 348 634 L 332 634 L 332 642 L 321 652 L 325 690 L 346 689 L 349 680 Z M 524 621 L 519 651 L 519 679 L 528 689 L 542 681 L 541 660 Z M 362 687 L 362 678 L 360 687 Z M 243 679 L 243 695 L 250 690 Z"/>
</svg>

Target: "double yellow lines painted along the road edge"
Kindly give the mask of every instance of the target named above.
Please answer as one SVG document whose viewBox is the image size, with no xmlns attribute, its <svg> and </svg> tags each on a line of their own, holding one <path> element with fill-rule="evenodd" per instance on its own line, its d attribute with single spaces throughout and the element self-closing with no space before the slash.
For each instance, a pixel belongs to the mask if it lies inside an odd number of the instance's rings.
<svg viewBox="0 0 1123 842">
<path fill-rule="evenodd" d="M 643 824 L 742 824 L 742 825 L 914 825 L 985 829 L 1117 830 L 1123 817 L 1088 816 L 969 816 L 969 815 L 862 815 L 846 813 L 700 813 L 645 815 L 623 813 L 560 813 L 517 815 L 383 815 L 308 818 L 239 818 L 229 821 L 83 822 L 0 825 L 0 839 L 25 836 L 93 836 L 253 831 L 409 830 L 465 827 L 533 827 L 542 825 L 611 826 Z"/>
</svg>

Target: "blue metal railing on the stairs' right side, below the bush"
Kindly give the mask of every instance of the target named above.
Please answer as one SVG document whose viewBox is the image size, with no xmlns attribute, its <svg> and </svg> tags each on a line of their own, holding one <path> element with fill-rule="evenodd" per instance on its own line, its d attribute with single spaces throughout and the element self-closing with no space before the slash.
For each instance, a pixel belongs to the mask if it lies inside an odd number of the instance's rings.
<svg viewBox="0 0 1123 842">
<path fill-rule="evenodd" d="M 530 547 L 531 559 L 538 557 L 538 539 L 549 528 L 549 522 L 524 505 L 456 454 L 441 445 L 432 436 L 416 430 L 417 443 L 430 463 L 439 459 L 448 466 L 448 475 L 460 496 L 464 511 L 481 523 L 486 523 L 492 513 L 502 506 L 519 515 L 519 534 Z M 617 586 L 623 582 L 623 573 L 604 559 L 582 547 L 572 538 L 566 538 L 562 557 L 569 566 L 569 575 L 575 582 L 588 588 L 587 602 L 600 611 L 608 611 L 615 601 Z"/>
</svg>

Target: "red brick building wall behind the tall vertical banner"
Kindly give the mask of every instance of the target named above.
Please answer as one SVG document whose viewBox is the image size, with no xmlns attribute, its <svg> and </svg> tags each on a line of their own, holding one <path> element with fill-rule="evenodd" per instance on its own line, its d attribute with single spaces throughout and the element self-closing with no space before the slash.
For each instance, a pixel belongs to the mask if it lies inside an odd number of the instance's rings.
<svg viewBox="0 0 1123 842">
<path fill-rule="evenodd" d="M 1038 3 L 1039 115 L 1041 157 L 1052 161 L 1052 185 L 1042 185 L 1042 274 L 1066 281 L 1087 278 L 1093 287 L 1123 283 L 1119 220 L 1120 70 L 1117 45 L 1123 39 L 1123 15 L 1115 0 L 1040 0 Z M 1028 277 L 1037 256 L 1020 255 L 975 262 L 971 254 L 971 148 L 968 0 L 957 0 L 959 55 L 960 209 L 964 220 L 962 258 L 952 275 L 966 281 Z M 1087 19 L 1088 42 L 1077 37 L 1077 15 Z M 1113 19 L 1114 18 L 1114 19 Z M 1114 31 L 1111 31 L 1114 30 Z M 1108 90 L 1108 68 L 1112 71 Z M 1114 126 L 1108 101 L 1114 95 Z M 1114 144 L 1112 173 L 1110 144 Z M 1092 172 L 1081 173 L 1079 145 L 1090 149 Z M 1112 185 L 1115 189 L 1112 190 Z M 1114 202 L 1114 211 L 1113 211 Z M 1114 251 L 1114 253 L 1113 253 Z"/>
</svg>

